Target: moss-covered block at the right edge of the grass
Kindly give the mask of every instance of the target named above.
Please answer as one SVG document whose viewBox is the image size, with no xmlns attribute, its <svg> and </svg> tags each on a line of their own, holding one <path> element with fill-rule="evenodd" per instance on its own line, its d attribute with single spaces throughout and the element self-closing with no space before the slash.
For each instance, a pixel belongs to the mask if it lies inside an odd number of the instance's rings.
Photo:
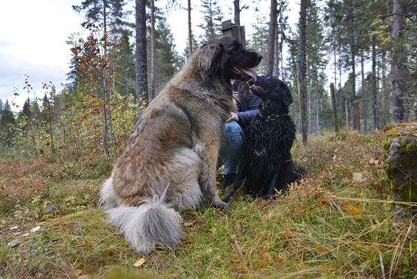
<svg viewBox="0 0 417 279">
<path fill-rule="evenodd" d="M 417 202 L 417 122 L 384 128 L 384 171 L 398 202 Z"/>
</svg>

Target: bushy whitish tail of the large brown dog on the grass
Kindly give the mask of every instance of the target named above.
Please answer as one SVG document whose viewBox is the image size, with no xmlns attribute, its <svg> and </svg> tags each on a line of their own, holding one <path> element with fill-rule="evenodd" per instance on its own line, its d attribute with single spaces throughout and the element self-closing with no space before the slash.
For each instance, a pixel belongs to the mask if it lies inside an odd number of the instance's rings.
<svg viewBox="0 0 417 279">
<path fill-rule="evenodd" d="M 174 247 L 181 240 L 182 217 L 163 200 L 155 197 L 137 207 L 108 209 L 108 221 L 120 228 L 139 253 L 150 253 L 156 246 Z"/>
</svg>

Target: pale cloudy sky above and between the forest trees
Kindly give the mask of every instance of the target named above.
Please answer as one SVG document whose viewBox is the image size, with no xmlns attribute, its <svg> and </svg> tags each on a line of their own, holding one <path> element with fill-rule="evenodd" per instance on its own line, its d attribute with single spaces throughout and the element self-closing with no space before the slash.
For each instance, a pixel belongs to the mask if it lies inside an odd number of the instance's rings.
<svg viewBox="0 0 417 279">
<path fill-rule="evenodd" d="M 66 44 L 72 33 L 83 32 L 81 15 L 72 10 L 73 5 L 82 0 L 19 0 L 3 1 L 0 10 L 0 98 L 3 103 L 8 99 L 13 111 L 19 111 L 24 101 L 36 95 L 43 97 L 43 83 L 53 83 L 58 91 L 64 88 L 66 74 L 70 72 L 71 51 Z M 185 0 L 179 0 L 186 5 Z M 232 19 L 233 1 L 223 1 L 224 19 Z M 269 1 L 263 2 L 265 13 L 269 15 Z M 127 8 L 133 8 L 134 1 L 129 1 Z M 163 7 L 163 1 L 156 1 L 156 6 Z M 293 13 L 298 17 L 297 12 Z M 201 22 L 199 8 L 192 10 L 192 24 Z M 250 20 L 254 19 L 250 10 L 243 10 L 240 15 L 246 33 L 250 33 Z M 188 40 L 187 12 L 174 10 L 168 15 L 168 24 L 174 35 L 177 51 L 182 53 Z M 198 31 L 193 27 L 193 31 Z M 25 80 L 33 90 L 24 90 Z M 14 93 L 19 94 L 15 96 Z"/>
</svg>

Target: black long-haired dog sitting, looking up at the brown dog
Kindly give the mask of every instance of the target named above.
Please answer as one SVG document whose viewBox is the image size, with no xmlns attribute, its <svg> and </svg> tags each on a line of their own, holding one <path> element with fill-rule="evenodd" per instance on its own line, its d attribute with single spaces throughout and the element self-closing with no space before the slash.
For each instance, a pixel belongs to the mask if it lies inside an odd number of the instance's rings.
<svg viewBox="0 0 417 279">
<path fill-rule="evenodd" d="M 295 125 L 288 116 L 293 102 L 288 86 L 277 77 L 256 77 L 250 91 L 261 97 L 260 114 L 245 130 L 236 180 L 224 202 L 234 198 L 245 180 L 245 189 L 254 198 L 272 199 L 277 191 L 300 178 L 300 168 L 291 157 Z"/>
</svg>

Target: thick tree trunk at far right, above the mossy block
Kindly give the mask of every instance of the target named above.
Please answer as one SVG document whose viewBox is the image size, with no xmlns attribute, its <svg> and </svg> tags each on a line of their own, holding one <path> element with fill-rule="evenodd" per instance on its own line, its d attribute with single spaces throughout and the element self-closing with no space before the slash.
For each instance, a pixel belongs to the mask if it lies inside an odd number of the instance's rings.
<svg viewBox="0 0 417 279">
<path fill-rule="evenodd" d="M 407 92 L 406 84 L 406 51 L 402 37 L 404 33 L 404 3 L 401 0 L 393 0 L 393 51 L 391 52 L 391 120 L 394 123 L 404 120 L 404 105 L 402 98 Z"/>
</svg>

